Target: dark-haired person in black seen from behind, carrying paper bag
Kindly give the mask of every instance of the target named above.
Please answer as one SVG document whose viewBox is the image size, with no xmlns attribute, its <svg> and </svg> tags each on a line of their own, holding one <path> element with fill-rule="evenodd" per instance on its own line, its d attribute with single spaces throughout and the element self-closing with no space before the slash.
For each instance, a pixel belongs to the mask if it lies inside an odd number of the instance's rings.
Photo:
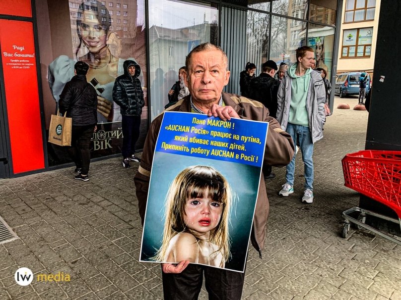
<svg viewBox="0 0 401 300">
<path fill-rule="evenodd" d="M 71 146 L 67 152 L 76 166 L 74 178 L 88 181 L 90 139 L 97 123 L 97 94 L 86 81 L 89 66 L 78 61 L 74 69 L 75 76 L 66 83 L 60 95 L 59 108 L 62 114 L 67 111 L 67 117 L 72 118 Z"/>
</svg>

